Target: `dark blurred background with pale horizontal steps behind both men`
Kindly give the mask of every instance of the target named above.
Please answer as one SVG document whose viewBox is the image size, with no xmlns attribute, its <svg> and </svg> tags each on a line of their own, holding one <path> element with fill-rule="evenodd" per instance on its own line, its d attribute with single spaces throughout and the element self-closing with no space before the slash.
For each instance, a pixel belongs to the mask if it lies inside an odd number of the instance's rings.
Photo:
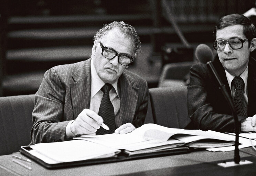
<svg viewBox="0 0 256 176">
<path fill-rule="evenodd" d="M 0 96 L 34 94 L 47 69 L 88 59 L 95 32 L 112 21 L 140 36 L 128 70 L 149 88 L 186 85 L 195 48 L 212 48 L 216 22 L 252 7 L 255 0 L 2 0 Z"/>
</svg>

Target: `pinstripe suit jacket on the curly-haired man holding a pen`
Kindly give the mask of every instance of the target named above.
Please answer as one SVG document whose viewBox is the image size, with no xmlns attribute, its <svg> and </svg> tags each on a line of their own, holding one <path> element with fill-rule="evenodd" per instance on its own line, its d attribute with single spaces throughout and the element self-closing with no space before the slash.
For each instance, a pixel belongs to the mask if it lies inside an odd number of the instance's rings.
<svg viewBox="0 0 256 176">
<path fill-rule="evenodd" d="M 70 120 L 90 106 L 90 61 L 60 65 L 47 70 L 35 94 L 32 113 L 33 143 L 65 139 L 65 128 Z M 127 70 L 119 77 L 120 112 L 117 128 L 131 122 L 136 128 L 144 123 L 148 106 L 146 80 Z"/>
</svg>

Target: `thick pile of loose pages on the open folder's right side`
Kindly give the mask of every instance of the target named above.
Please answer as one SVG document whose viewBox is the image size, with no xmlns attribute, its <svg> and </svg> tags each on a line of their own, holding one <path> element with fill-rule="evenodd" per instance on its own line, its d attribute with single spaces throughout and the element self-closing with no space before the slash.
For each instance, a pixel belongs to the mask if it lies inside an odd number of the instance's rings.
<svg viewBox="0 0 256 176">
<path fill-rule="evenodd" d="M 202 130 L 183 130 L 144 124 L 127 134 L 105 134 L 75 137 L 132 154 L 171 150 L 177 147 L 212 148 L 234 145 L 227 137 Z"/>
</svg>

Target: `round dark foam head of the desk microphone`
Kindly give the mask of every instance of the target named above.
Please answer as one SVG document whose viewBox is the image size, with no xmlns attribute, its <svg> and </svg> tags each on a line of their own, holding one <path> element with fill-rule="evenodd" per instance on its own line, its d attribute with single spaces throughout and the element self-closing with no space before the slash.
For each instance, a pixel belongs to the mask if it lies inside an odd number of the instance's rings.
<svg viewBox="0 0 256 176">
<path fill-rule="evenodd" d="M 195 49 L 195 57 L 199 62 L 206 64 L 209 61 L 213 61 L 213 52 L 211 48 L 206 44 L 200 44 Z"/>
</svg>

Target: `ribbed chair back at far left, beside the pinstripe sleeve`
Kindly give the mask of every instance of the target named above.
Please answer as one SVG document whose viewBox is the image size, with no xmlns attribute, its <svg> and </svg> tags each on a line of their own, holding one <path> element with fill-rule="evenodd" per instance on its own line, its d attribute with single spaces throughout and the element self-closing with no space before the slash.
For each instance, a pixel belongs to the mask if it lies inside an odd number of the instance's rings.
<svg viewBox="0 0 256 176">
<path fill-rule="evenodd" d="M 0 155 L 29 145 L 35 95 L 0 97 Z"/>
</svg>

